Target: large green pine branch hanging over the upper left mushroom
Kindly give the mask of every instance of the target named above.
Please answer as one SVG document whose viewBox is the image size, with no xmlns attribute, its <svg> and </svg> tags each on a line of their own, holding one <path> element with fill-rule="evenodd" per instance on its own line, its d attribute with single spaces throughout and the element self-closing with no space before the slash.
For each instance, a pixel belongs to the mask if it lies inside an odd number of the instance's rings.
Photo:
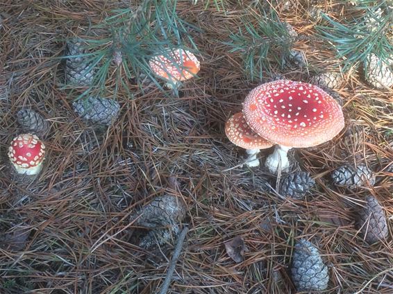
<svg viewBox="0 0 393 294">
<path fill-rule="evenodd" d="M 120 89 L 131 93 L 128 80 L 140 83 L 142 77 L 148 77 L 162 89 L 160 80 L 151 72 L 149 59 L 155 55 L 167 55 L 170 59 L 171 50 L 186 49 L 186 44 L 196 49 L 189 31 L 199 29 L 178 17 L 176 4 L 177 0 L 144 0 L 135 9 L 113 11 L 112 16 L 94 26 L 93 31 L 107 31 L 108 37 L 81 39 L 88 51 L 83 57 L 95 74 L 92 85 L 78 98 L 93 92 L 104 95 L 108 91 L 106 84 L 114 75 L 115 87 L 110 89 L 114 96 Z M 140 87 L 143 89 L 141 84 Z"/>
</svg>

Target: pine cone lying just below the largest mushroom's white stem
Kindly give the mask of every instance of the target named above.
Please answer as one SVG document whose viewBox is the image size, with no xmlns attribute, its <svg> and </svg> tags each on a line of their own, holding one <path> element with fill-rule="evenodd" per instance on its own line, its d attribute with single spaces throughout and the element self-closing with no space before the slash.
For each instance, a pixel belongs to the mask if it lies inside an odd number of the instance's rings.
<svg viewBox="0 0 393 294">
<path fill-rule="evenodd" d="M 315 180 L 310 177 L 310 173 L 301 171 L 286 175 L 281 180 L 279 191 L 282 196 L 303 199 L 314 185 Z"/>
</svg>

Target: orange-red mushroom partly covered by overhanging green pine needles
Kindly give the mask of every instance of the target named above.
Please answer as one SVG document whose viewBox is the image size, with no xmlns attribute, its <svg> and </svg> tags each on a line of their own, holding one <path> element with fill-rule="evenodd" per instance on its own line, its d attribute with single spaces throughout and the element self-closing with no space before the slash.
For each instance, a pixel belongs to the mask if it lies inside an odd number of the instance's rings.
<svg viewBox="0 0 393 294">
<path fill-rule="evenodd" d="M 149 60 L 149 66 L 154 74 L 168 81 L 167 87 L 169 88 L 192 78 L 201 69 L 201 64 L 195 55 L 183 49 L 157 55 Z"/>
</svg>

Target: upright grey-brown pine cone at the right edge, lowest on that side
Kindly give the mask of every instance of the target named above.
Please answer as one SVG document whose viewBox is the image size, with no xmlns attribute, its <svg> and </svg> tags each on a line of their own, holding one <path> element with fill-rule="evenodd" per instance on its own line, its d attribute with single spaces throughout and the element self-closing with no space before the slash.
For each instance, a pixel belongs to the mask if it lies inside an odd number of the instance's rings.
<svg viewBox="0 0 393 294">
<path fill-rule="evenodd" d="M 366 205 L 359 213 L 358 227 L 367 243 L 386 239 L 388 230 L 385 214 L 374 196 L 367 196 Z"/>
</svg>

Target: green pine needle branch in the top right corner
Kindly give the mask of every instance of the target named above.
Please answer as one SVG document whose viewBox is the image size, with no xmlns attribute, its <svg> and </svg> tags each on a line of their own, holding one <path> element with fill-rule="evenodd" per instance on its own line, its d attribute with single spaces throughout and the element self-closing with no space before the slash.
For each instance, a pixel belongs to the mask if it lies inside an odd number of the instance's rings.
<svg viewBox="0 0 393 294">
<path fill-rule="evenodd" d="M 363 13 L 355 17 L 346 17 L 346 21 L 337 21 L 322 14 L 327 21 L 325 26 L 317 26 L 319 36 L 333 45 L 337 58 L 342 59 L 344 71 L 358 64 L 367 67 L 369 55 L 374 53 L 383 62 L 392 58 L 393 10 L 387 1 L 358 1 L 356 10 Z M 373 5 L 373 6 L 370 6 Z M 392 37 L 390 37 L 392 38 Z"/>
</svg>

